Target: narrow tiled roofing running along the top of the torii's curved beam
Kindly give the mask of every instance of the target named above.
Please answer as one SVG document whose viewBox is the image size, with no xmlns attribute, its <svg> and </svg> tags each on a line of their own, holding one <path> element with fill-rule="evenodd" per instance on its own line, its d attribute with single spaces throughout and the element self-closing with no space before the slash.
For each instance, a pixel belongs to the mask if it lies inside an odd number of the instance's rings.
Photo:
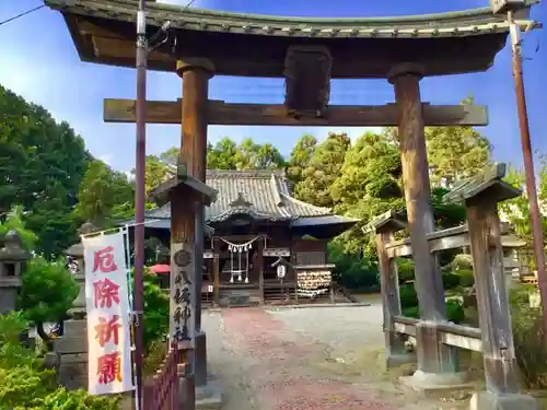
<svg viewBox="0 0 547 410">
<path fill-rule="evenodd" d="M 135 22 L 135 0 L 46 0 L 63 12 Z M 73 5 L 71 5 L 73 3 Z M 532 2 L 531 2 L 532 3 Z M 386 17 L 293 17 L 230 13 L 183 5 L 148 2 L 148 19 L 161 26 L 171 21 L 177 28 L 299 37 L 451 37 L 509 31 L 504 16 L 490 8 Z"/>
</svg>

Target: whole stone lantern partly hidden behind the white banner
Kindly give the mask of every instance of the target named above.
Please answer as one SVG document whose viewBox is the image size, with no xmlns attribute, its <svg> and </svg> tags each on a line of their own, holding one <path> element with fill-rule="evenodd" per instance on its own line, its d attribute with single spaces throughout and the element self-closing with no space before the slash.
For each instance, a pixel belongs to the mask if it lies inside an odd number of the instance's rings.
<svg viewBox="0 0 547 410">
<path fill-rule="evenodd" d="M 80 234 L 96 231 L 90 222 L 84 223 Z M 88 321 L 85 318 L 85 266 L 83 244 L 79 241 L 70 246 L 65 255 L 75 259 L 78 269 L 74 279 L 80 286 L 73 308 L 69 312 L 71 318 L 65 321 L 65 333 L 54 341 L 54 351 L 59 356 L 59 383 L 68 389 L 88 388 Z"/>
</svg>

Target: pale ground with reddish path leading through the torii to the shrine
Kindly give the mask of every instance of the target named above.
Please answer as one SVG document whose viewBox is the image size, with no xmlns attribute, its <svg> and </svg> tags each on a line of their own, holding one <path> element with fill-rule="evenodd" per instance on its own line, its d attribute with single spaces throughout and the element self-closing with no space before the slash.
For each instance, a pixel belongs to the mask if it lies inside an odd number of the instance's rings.
<svg viewBox="0 0 547 410">
<path fill-rule="evenodd" d="M 374 301 L 373 301 L 374 302 Z M 382 308 L 233 308 L 203 314 L 225 410 L 452 410 L 383 371 Z M 408 372 L 408 370 L 407 370 Z M 400 373 L 399 373 L 400 375 Z"/>
</svg>

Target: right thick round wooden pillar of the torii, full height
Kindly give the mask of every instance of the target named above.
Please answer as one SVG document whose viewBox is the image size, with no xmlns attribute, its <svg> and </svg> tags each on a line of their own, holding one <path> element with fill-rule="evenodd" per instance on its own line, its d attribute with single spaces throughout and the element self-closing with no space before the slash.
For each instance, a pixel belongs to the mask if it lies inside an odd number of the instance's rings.
<svg viewBox="0 0 547 410">
<path fill-rule="evenodd" d="M 416 327 L 418 370 L 416 382 L 429 385 L 461 383 L 457 351 L 438 339 L 437 326 L 446 321 L 442 276 L 430 253 L 427 235 L 434 231 L 431 188 L 420 98 L 421 69 L 400 65 L 389 74 L 398 108 L 398 138 L 408 230 L 412 245 L 420 319 Z"/>
</svg>

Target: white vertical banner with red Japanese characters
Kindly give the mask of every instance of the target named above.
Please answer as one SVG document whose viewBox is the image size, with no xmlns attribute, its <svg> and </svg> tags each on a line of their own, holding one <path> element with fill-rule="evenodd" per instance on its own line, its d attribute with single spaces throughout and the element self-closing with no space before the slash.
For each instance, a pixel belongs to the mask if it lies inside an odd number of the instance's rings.
<svg viewBox="0 0 547 410">
<path fill-rule="evenodd" d="M 89 393 L 133 390 L 124 233 L 83 237 Z"/>
</svg>

